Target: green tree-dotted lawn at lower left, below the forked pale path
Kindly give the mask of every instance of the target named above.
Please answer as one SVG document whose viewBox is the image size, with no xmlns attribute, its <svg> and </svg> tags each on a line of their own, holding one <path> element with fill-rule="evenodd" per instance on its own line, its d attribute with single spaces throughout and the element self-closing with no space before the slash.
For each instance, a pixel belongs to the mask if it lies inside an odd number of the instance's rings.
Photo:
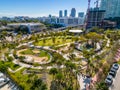
<svg viewBox="0 0 120 90">
<path fill-rule="evenodd" d="M 41 78 L 43 76 L 43 74 L 24 74 L 24 70 L 26 70 L 25 68 L 21 69 L 20 71 L 16 72 L 16 73 L 9 73 L 10 77 L 16 82 L 18 83 L 18 85 L 20 85 L 23 90 L 30 90 L 30 87 L 33 84 L 34 78 L 38 77 Z"/>
</svg>

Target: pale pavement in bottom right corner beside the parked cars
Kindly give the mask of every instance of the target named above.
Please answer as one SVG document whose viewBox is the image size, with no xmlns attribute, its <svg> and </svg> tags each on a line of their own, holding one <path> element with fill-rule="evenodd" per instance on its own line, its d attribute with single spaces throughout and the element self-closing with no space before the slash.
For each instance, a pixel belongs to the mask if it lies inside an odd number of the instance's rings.
<svg viewBox="0 0 120 90">
<path fill-rule="evenodd" d="M 120 67 L 119 67 L 119 69 L 117 71 L 116 77 L 113 80 L 113 84 L 109 88 L 109 90 L 120 90 Z"/>
</svg>

